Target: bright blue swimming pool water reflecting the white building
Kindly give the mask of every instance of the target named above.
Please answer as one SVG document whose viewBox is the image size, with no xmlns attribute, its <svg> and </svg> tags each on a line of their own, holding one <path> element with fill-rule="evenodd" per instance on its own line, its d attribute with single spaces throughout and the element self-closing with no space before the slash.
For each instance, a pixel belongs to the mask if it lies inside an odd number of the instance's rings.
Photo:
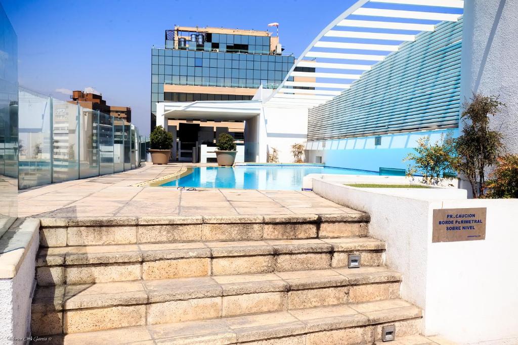
<svg viewBox="0 0 518 345">
<path fill-rule="evenodd" d="M 378 175 L 378 173 L 323 166 L 196 167 L 192 173 L 164 183 L 164 187 L 300 190 L 307 174 Z"/>
</svg>

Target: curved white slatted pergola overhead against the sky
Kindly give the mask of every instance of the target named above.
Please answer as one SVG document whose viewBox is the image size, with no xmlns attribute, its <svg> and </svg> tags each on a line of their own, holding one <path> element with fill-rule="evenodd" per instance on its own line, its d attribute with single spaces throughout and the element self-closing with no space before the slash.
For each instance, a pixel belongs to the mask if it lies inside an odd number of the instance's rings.
<svg viewBox="0 0 518 345">
<path fill-rule="evenodd" d="M 457 21 L 463 8 L 463 0 L 359 0 L 315 37 L 264 102 L 305 109 L 325 103 L 402 43 L 434 31 L 440 22 Z M 313 67 L 315 72 L 295 71 L 296 67 Z M 288 81 L 290 77 L 314 78 L 315 82 Z"/>
</svg>

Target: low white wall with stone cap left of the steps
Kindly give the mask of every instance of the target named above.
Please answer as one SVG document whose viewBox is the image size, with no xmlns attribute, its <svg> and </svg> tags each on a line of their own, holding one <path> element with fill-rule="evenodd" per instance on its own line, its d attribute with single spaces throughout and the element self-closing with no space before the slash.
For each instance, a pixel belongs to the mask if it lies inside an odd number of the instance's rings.
<svg viewBox="0 0 518 345">
<path fill-rule="evenodd" d="M 18 219 L 0 238 L 0 343 L 30 336 L 39 221 Z"/>
</svg>

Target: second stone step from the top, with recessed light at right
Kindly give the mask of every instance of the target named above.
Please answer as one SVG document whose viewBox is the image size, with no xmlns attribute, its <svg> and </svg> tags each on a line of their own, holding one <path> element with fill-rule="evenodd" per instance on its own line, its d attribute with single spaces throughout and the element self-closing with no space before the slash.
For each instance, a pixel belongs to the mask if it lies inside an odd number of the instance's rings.
<svg viewBox="0 0 518 345">
<path fill-rule="evenodd" d="M 42 248 L 39 286 L 155 280 L 384 264 L 385 243 L 370 237 Z"/>
</svg>

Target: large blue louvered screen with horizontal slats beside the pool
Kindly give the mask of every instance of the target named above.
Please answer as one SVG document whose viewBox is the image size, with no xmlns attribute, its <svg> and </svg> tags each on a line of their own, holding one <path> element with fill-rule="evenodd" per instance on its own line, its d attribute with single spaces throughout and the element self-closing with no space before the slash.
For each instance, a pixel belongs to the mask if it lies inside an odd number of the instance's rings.
<svg viewBox="0 0 518 345">
<path fill-rule="evenodd" d="M 308 141 L 458 127 L 462 18 L 416 36 L 309 110 Z"/>
</svg>

